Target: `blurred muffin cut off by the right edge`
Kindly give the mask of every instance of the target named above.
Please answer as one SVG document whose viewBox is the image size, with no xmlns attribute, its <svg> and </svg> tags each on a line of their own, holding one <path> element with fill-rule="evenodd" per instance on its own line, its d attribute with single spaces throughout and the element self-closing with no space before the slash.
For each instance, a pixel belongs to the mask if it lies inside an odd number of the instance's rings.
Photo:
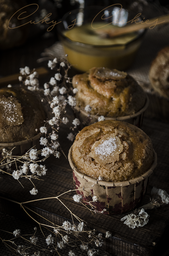
<svg viewBox="0 0 169 256">
<path fill-rule="evenodd" d="M 169 46 L 159 51 L 152 61 L 149 79 L 152 88 L 160 96 L 169 99 Z"/>
</svg>

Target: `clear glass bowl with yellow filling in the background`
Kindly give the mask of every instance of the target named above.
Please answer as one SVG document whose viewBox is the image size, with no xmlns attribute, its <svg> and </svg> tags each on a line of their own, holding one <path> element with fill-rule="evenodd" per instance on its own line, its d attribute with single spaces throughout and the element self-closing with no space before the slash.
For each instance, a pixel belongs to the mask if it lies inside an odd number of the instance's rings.
<svg viewBox="0 0 169 256">
<path fill-rule="evenodd" d="M 137 14 L 121 4 L 109 7 L 90 6 L 66 13 L 57 25 L 68 61 L 80 72 L 93 67 L 127 69 L 141 45 L 144 29 L 110 38 L 98 34 L 99 29 L 120 28 L 129 25 Z M 141 22 L 141 18 L 138 17 Z M 128 23 L 126 23 L 126 22 Z"/>
</svg>

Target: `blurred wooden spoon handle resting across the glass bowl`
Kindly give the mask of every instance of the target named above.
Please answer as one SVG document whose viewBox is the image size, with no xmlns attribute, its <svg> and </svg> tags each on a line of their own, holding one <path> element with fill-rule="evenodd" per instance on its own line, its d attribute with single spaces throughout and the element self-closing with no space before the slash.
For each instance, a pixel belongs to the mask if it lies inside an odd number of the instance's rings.
<svg viewBox="0 0 169 256">
<path fill-rule="evenodd" d="M 133 21 L 134 22 L 134 21 Z M 128 26 L 124 26 L 124 27 L 116 27 L 116 28 L 109 28 L 109 29 L 103 29 L 103 28 L 98 28 L 96 29 L 96 33 L 99 34 L 101 37 L 116 37 L 118 35 L 122 35 L 122 34 L 127 34 L 127 33 L 131 33 L 131 32 L 135 32 L 137 30 L 141 30 L 144 28 L 154 28 L 157 25 L 162 25 L 165 23 L 169 23 L 169 14 L 167 15 L 162 15 L 156 18 L 152 18 L 150 20 L 143 20 L 143 23 L 133 23 L 130 24 Z"/>
</svg>

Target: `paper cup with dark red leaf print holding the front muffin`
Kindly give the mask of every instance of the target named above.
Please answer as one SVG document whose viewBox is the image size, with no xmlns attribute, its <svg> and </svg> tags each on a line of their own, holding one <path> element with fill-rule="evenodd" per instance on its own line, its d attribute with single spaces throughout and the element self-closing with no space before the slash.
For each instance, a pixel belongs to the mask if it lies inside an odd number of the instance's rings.
<svg viewBox="0 0 169 256">
<path fill-rule="evenodd" d="M 83 202 L 91 205 L 95 212 L 104 214 L 122 214 L 139 205 L 147 191 L 150 175 L 157 166 L 157 154 L 154 152 L 154 163 L 136 179 L 122 182 L 102 181 L 79 172 L 72 162 L 71 153 L 72 147 L 69 149 L 68 160 L 73 170 L 76 193 L 82 195 Z M 97 202 L 93 202 L 93 196 L 98 197 Z"/>
</svg>

